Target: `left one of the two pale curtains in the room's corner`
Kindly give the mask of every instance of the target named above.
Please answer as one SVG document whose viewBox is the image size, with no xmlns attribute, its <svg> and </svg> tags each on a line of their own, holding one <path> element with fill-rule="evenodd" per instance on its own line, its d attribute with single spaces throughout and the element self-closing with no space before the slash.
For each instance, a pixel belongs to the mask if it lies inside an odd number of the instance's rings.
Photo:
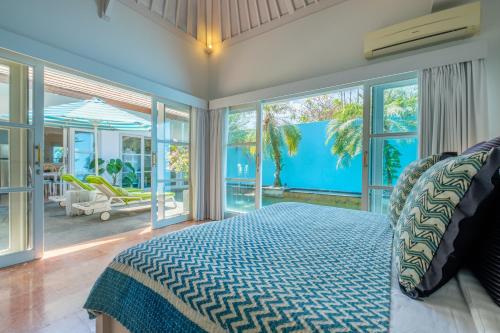
<svg viewBox="0 0 500 333">
<path fill-rule="evenodd" d="M 191 205 L 193 219 L 207 217 L 207 170 L 208 170 L 208 111 L 191 108 Z"/>
</svg>

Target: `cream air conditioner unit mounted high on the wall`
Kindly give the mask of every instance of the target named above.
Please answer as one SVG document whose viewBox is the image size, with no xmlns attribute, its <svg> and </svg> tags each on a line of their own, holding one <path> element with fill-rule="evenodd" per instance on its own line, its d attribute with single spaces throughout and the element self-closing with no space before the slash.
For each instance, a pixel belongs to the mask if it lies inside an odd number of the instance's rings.
<svg viewBox="0 0 500 333">
<path fill-rule="evenodd" d="M 365 57 L 470 37 L 479 32 L 480 12 L 480 3 L 474 2 L 370 32 L 365 36 Z"/>
</svg>

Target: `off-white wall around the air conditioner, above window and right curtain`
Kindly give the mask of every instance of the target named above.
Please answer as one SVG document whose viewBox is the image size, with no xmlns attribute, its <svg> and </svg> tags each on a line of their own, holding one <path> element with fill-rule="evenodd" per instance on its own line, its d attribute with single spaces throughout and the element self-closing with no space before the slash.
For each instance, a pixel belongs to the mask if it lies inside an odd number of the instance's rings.
<svg viewBox="0 0 500 333">
<path fill-rule="evenodd" d="M 363 37 L 368 31 L 430 13 L 432 0 L 349 0 L 311 16 L 294 21 L 255 38 L 223 48 L 209 63 L 209 94 L 212 100 L 242 94 L 264 94 L 264 88 L 324 77 L 363 66 L 403 59 L 409 55 L 439 50 L 450 45 L 477 45 L 484 41 L 487 51 L 489 123 L 488 136 L 500 135 L 500 13 L 499 0 L 481 0 L 482 31 L 466 41 L 367 61 L 363 56 Z M 469 50 L 468 50 L 469 51 Z M 474 53 L 475 50 L 470 50 Z M 439 53 L 439 52 L 437 52 Z M 436 53 L 436 54 L 437 54 Z M 440 55 L 446 54 L 440 53 Z M 459 58 L 460 55 L 454 55 Z M 410 58 L 408 58 L 410 59 Z M 351 71 L 352 74 L 352 71 Z M 342 78 L 340 78 L 342 79 Z M 321 80 L 320 80 L 321 81 Z M 324 81 L 324 80 L 323 80 Z M 347 83 L 347 82 L 343 82 Z M 307 85 L 307 84 L 305 84 Z M 329 85 L 325 84 L 325 87 Z M 295 88 L 294 88 L 295 89 Z M 261 91 L 259 91 L 261 90 Z M 268 89 L 269 90 L 269 89 Z M 277 87 L 275 91 L 286 90 Z M 266 91 L 267 92 L 267 91 Z M 245 96 L 243 96 L 245 95 Z M 214 103 L 218 104 L 218 103 Z"/>
</svg>

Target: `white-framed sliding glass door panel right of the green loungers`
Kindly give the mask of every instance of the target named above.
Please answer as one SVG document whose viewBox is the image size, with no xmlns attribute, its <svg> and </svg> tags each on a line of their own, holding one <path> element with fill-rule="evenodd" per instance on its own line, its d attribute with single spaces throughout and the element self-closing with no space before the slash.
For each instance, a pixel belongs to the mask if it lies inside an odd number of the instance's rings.
<svg viewBox="0 0 500 333">
<path fill-rule="evenodd" d="M 152 220 L 160 228 L 190 218 L 190 109 L 153 100 L 152 139 Z"/>
</svg>

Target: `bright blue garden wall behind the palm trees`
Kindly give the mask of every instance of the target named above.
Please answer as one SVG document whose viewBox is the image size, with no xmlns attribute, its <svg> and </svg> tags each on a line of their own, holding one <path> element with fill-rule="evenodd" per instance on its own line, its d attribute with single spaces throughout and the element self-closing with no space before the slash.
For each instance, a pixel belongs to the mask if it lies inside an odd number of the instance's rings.
<svg viewBox="0 0 500 333">
<path fill-rule="evenodd" d="M 352 160 L 350 167 L 337 168 L 338 159 L 330 152 L 332 143 L 325 145 L 327 125 L 328 121 L 298 125 L 302 134 L 299 151 L 294 157 L 283 154 L 282 183 L 288 188 L 360 193 L 361 154 Z M 398 142 L 397 148 L 401 152 L 402 168 L 416 158 L 416 143 Z M 255 177 L 255 158 L 248 151 L 232 147 L 227 159 L 227 177 Z M 272 185 L 274 163 L 265 154 L 262 168 L 263 185 Z"/>
</svg>

